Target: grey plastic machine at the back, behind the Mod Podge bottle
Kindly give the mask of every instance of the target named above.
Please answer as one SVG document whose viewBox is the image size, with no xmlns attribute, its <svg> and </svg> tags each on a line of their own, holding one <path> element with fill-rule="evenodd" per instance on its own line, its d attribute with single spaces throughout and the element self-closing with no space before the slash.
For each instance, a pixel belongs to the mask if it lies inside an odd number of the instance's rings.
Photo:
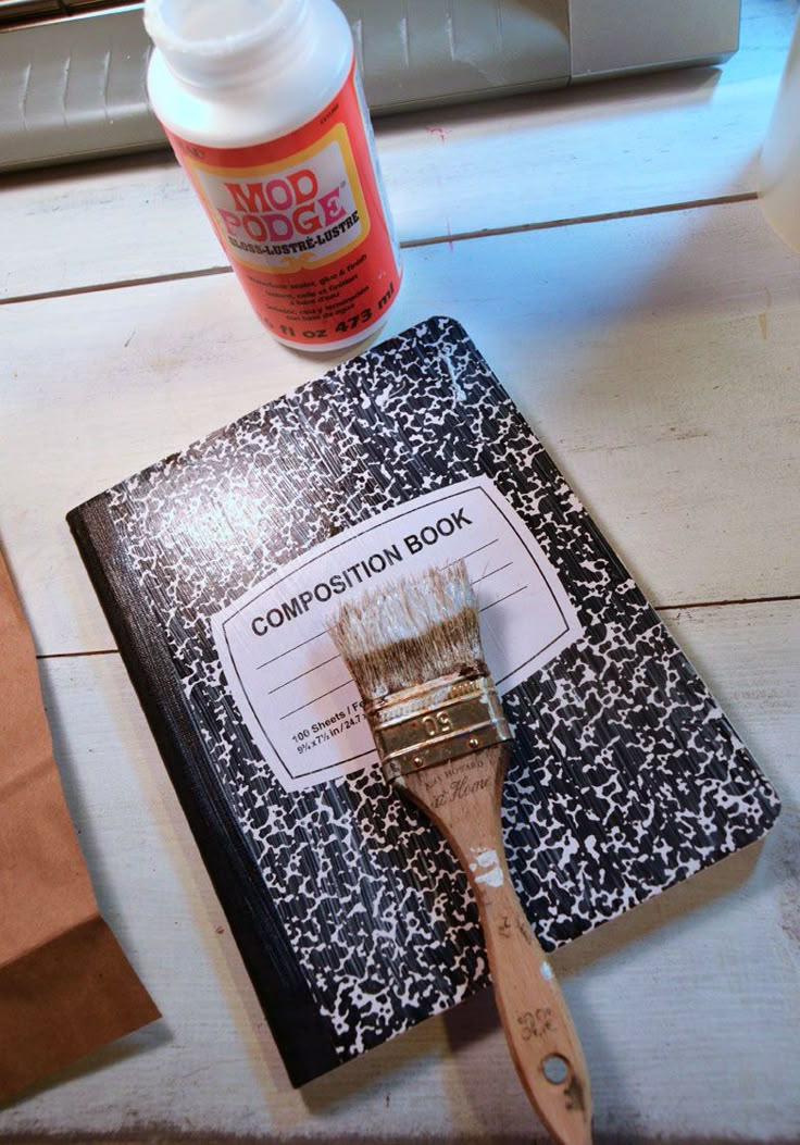
<svg viewBox="0 0 800 1145">
<path fill-rule="evenodd" d="M 223 2 L 223 0 L 220 0 Z M 374 114 L 719 63 L 739 0 L 340 0 Z M 166 145 L 141 5 L 0 0 L 0 169 Z"/>
</svg>

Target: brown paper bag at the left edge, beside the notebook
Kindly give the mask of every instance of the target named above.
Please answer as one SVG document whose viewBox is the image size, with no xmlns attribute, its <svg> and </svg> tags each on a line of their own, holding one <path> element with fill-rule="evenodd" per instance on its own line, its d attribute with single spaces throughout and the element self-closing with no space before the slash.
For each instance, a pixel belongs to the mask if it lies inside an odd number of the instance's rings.
<svg viewBox="0 0 800 1145">
<path fill-rule="evenodd" d="M 97 910 L 0 554 L 0 1101 L 158 1017 Z"/>
</svg>

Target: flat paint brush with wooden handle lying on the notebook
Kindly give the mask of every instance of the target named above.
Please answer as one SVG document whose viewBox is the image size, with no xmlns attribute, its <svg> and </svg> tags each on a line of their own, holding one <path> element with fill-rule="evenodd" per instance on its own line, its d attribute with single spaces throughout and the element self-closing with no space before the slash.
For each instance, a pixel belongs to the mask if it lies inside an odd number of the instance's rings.
<svg viewBox="0 0 800 1145">
<path fill-rule="evenodd" d="M 580 1042 L 506 864 L 508 741 L 464 561 L 344 603 L 330 626 L 364 700 L 383 774 L 443 832 L 469 879 L 506 1041 L 560 1145 L 591 1145 Z"/>
</svg>

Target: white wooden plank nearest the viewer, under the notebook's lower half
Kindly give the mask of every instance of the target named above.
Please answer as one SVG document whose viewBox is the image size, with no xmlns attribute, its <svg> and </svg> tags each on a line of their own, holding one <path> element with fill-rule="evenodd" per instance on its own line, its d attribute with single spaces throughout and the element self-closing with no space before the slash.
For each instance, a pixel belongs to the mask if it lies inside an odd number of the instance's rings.
<svg viewBox="0 0 800 1145">
<path fill-rule="evenodd" d="M 603 1139 L 790 1139 L 800 1118 L 800 602 L 667 622 L 778 784 L 784 812 L 760 854 L 696 876 L 556 962 Z M 0 1111 L 3 1140 L 363 1139 L 365 1126 L 375 1142 L 530 1139 L 488 995 L 293 1091 L 121 662 L 40 666 L 101 905 L 165 1018 Z"/>
</svg>

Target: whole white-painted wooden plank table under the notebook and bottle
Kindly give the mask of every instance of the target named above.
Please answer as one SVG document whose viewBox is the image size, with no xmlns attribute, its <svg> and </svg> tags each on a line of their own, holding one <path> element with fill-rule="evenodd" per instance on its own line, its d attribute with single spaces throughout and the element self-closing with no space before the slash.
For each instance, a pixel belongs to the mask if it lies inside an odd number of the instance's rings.
<svg viewBox="0 0 800 1145">
<path fill-rule="evenodd" d="M 800 1140 L 800 256 L 754 199 L 795 0 L 722 69 L 385 120 L 391 334 L 459 318 L 784 811 L 556 956 L 600 1142 Z M 541 1139 L 489 995 L 288 1085 L 64 523 L 324 363 L 272 344 L 167 153 L 0 182 L 0 538 L 102 907 L 159 1024 L 0 1138 Z"/>
</svg>

